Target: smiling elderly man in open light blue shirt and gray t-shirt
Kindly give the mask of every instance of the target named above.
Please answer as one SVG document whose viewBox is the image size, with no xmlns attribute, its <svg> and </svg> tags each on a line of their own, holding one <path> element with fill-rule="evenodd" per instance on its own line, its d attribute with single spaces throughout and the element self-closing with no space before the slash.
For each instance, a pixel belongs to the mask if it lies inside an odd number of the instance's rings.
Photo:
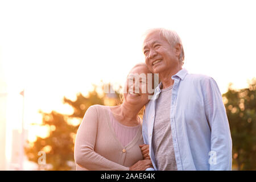
<svg viewBox="0 0 256 182">
<path fill-rule="evenodd" d="M 161 81 L 146 105 L 142 126 L 154 169 L 231 170 L 229 123 L 213 78 L 182 68 L 183 46 L 174 31 L 148 31 L 143 53 Z"/>
</svg>

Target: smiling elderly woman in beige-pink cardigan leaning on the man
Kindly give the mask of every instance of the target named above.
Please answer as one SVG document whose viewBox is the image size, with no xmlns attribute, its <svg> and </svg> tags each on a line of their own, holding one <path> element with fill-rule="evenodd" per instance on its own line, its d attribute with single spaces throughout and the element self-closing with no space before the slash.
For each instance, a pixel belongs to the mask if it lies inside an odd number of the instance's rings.
<svg viewBox="0 0 256 182">
<path fill-rule="evenodd" d="M 140 78 L 139 84 L 133 80 L 141 73 L 152 74 L 146 64 L 135 65 L 127 76 L 121 105 L 93 105 L 86 111 L 76 135 L 77 170 L 143 171 L 152 167 L 138 116 L 149 101 L 148 92 L 143 93 L 147 80 Z M 136 89 L 139 93 L 133 91 Z"/>
</svg>

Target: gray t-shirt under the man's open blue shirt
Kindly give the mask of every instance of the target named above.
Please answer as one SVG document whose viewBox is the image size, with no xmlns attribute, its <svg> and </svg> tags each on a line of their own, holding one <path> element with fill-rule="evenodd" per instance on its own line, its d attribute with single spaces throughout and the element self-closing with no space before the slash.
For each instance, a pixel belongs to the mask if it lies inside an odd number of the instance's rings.
<svg viewBox="0 0 256 182">
<path fill-rule="evenodd" d="M 156 100 L 152 146 L 159 171 L 177 170 L 170 121 L 171 95 L 172 86 L 162 89 Z"/>
</svg>

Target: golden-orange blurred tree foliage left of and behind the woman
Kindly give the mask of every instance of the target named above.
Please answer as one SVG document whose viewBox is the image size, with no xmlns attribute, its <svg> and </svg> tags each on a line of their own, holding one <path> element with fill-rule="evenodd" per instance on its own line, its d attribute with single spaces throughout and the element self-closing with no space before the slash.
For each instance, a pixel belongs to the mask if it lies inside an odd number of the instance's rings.
<svg viewBox="0 0 256 182">
<path fill-rule="evenodd" d="M 102 86 L 93 85 L 93 91 L 85 97 L 81 93 L 77 94 L 75 101 L 63 98 L 64 104 L 69 104 L 73 108 L 73 114 L 65 115 L 52 111 L 51 113 L 40 113 L 43 116 L 41 126 L 48 127 L 48 137 L 37 137 L 35 142 L 28 144 L 25 148 L 28 160 L 38 163 L 39 151 L 46 152 L 46 164 L 39 165 L 39 169 L 46 170 L 72 170 L 74 166 L 74 144 L 77 129 L 89 106 L 100 104 L 118 105 L 120 104 L 119 91 L 113 94 L 105 94 L 104 89 L 111 87 L 110 84 Z M 98 90 L 98 91 L 97 91 Z M 99 94 L 101 92 L 101 95 Z M 72 119 L 78 119 L 78 125 L 72 125 Z"/>
</svg>

